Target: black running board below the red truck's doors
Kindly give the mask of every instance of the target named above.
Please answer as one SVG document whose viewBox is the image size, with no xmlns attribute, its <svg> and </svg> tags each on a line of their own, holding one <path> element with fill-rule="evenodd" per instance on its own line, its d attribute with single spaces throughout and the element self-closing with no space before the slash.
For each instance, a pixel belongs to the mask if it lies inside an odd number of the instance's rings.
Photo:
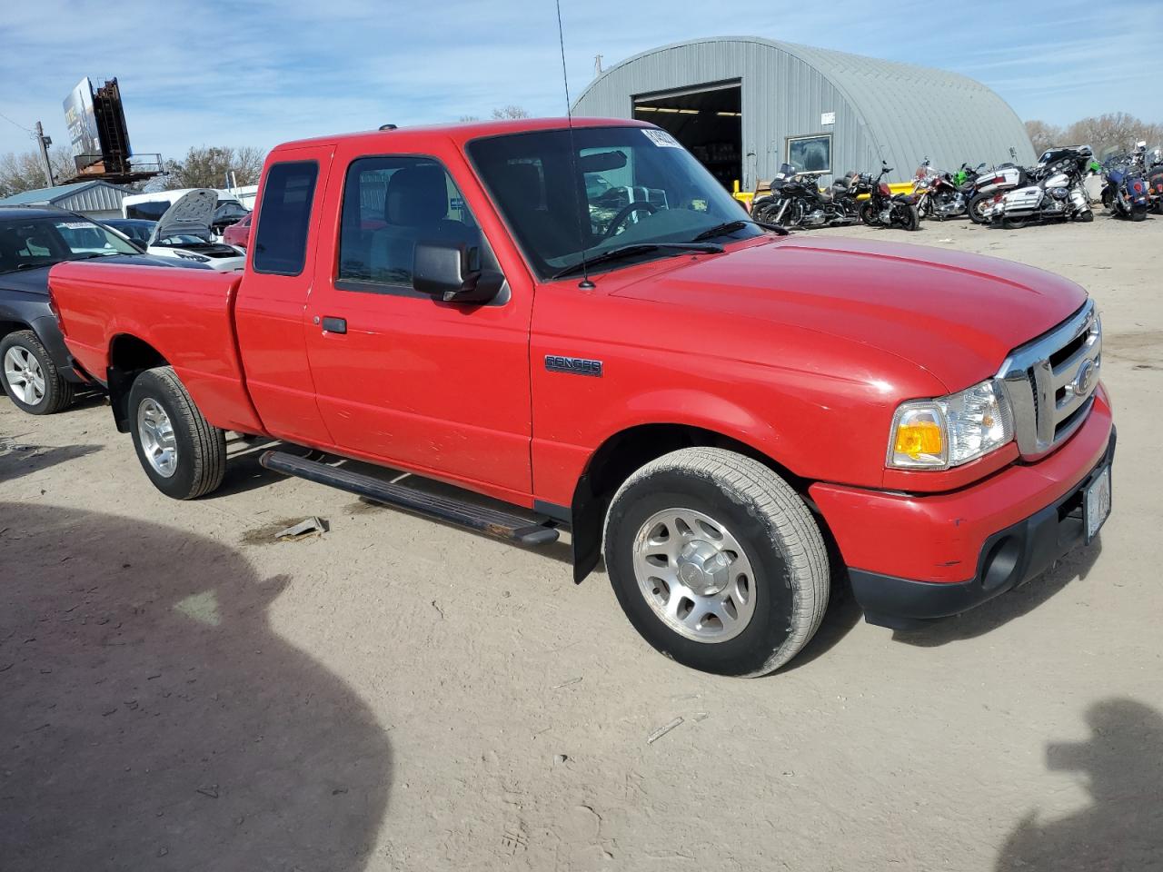
<svg viewBox="0 0 1163 872">
<path fill-rule="evenodd" d="M 473 506 L 449 496 L 424 493 L 406 485 L 394 485 L 372 476 L 351 472 L 326 463 L 295 457 L 285 451 L 264 451 L 258 462 L 267 470 L 307 479 L 320 485 L 366 496 L 376 502 L 407 509 L 418 515 L 468 527 L 521 545 L 545 545 L 556 542 L 558 531 L 552 519 L 525 519 L 507 512 Z"/>
</svg>

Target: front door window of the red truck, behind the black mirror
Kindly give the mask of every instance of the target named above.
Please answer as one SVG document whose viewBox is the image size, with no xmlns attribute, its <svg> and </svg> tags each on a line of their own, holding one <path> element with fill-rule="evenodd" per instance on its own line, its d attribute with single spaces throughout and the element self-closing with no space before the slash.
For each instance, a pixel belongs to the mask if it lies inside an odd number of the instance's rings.
<svg viewBox="0 0 1163 872">
<path fill-rule="evenodd" d="M 443 164 L 427 157 L 363 157 L 348 167 L 336 286 L 412 288 L 418 242 L 463 243 L 495 260 Z"/>
</svg>

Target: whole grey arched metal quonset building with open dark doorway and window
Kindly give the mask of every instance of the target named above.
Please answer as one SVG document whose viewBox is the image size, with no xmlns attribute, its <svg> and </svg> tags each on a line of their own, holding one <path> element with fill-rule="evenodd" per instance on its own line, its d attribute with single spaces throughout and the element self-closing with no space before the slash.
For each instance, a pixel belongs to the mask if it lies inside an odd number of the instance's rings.
<svg viewBox="0 0 1163 872">
<path fill-rule="evenodd" d="M 654 122 L 743 190 L 784 162 L 842 176 L 884 159 L 899 181 L 926 157 L 943 170 L 1035 159 L 1021 120 L 979 81 L 755 36 L 635 55 L 594 79 L 573 112 Z"/>
</svg>

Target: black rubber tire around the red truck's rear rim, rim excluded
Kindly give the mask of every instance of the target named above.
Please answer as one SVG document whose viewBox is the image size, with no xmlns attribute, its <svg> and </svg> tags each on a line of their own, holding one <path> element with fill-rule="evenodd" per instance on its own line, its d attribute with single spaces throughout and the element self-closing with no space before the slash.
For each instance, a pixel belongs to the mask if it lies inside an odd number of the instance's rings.
<svg viewBox="0 0 1163 872">
<path fill-rule="evenodd" d="M 173 430 L 177 460 L 170 476 L 155 469 L 142 444 L 138 416 L 148 400 L 162 407 Z M 222 484 L 226 474 L 226 433 L 202 417 L 172 367 L 147 370 L 134 379 L 129 388 L 129 431 L 142 469 L 166 496 L 193 500 Z"/>
</svg>

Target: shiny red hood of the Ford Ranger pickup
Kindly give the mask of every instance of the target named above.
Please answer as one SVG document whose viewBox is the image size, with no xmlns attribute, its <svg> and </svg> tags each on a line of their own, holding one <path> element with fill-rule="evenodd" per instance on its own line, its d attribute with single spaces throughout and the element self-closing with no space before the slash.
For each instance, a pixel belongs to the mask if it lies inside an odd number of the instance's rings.
<svg viewBox="0 0 1163 872">
<path fill-rule="evenodd" d="M 1072 281 L 980 255 L 786 237 L 687 260 L 614 292 L 871 345 L 959 391 L 1086 300 Z"/>
</svg>

